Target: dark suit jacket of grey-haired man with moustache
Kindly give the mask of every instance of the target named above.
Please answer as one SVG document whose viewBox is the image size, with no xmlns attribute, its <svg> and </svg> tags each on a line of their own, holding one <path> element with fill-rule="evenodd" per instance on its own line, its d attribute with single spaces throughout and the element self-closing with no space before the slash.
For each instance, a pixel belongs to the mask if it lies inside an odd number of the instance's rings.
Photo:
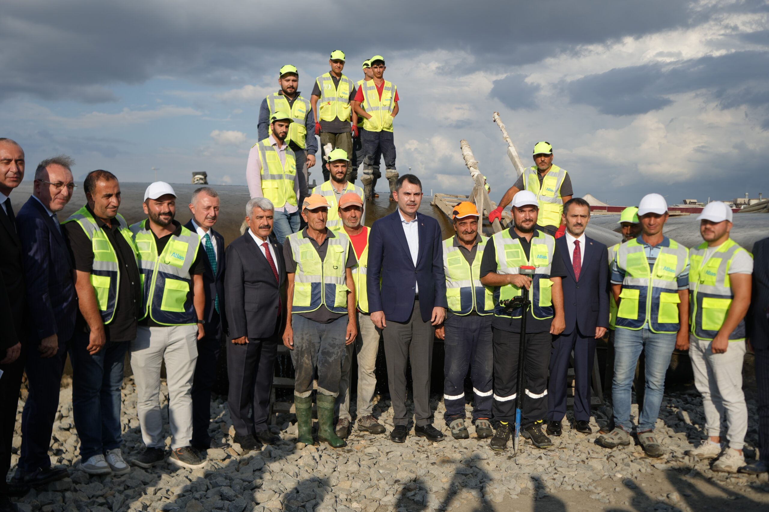
<svg viewBox="0 0 769 512">
<path fill-rule="evenodd" d="M 268 240 L 275 251 L 278 279 L 272 273 L 270 263 L 261 249 L 246 232 L 235 239 L 227 248 L 227 293 L 228 339 L 248 336 L 248 339 L 265 339 L 281 332 L 285 325 L 286 313 L 286 265 L 283 247 L 274 239 Z M 281 316 L 278 318 L 278 305 Z"/>
</svg>

